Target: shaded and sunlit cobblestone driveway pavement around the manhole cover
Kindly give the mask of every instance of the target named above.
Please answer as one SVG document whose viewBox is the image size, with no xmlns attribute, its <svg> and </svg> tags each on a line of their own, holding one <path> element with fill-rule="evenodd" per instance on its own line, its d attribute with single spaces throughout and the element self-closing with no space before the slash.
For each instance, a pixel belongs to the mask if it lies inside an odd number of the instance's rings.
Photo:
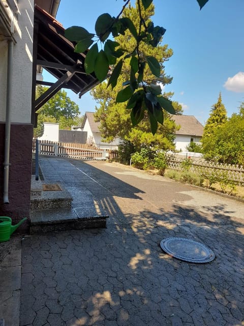
<svg viewBox="0 0 244 326">
<path fill-rule="evenodd" d="M 243 203 L 104 162 L 49 158 L 45 169 L 71 192 L 86 186 L 110 218 L 25 237 L 20 326 L 244 325 Z M 216 259 L 170 257 L 159 244 L 172 236 Z"/>
</svg>

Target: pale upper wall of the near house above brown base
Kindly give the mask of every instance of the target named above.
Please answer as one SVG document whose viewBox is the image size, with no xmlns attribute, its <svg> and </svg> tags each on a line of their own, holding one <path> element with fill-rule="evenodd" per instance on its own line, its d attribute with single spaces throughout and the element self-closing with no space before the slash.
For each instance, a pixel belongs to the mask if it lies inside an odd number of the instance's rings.
<svg viewBox="0 0 244 326">
<path fill-rule="evenodd" d="M 34 0 L 18 3 L 18 20 L 15 19 L 13 53 L 13 96 L 11 99 L 11 122 L 31 123 L 32 107 L 32 53 Z M 0 41 L 0 121 L 5 121 L 8 45 Z"/>
</svg>

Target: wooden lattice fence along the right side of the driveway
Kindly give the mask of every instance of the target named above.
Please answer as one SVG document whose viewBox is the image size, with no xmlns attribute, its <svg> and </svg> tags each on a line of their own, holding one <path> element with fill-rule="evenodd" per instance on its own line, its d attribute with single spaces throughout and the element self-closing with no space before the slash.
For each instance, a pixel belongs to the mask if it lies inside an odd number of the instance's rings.
<svg viewBox="0 0 244 326">
<path fill-rule="evenodd" d="M 168 156 L 168 166 L 175 170 L 184 170 L 182 162 L 184 158 L 174 157 L 173 155 Z M 231 164 L 221 164 L 213 161 L 201 160 L 189 160 L 189 169 L 192 172 L 203 176 L 215 175 L 224 177 L 225 175 L 231 181 L 236 183 L 244 183 L 244 167 Z"/>
</svg>

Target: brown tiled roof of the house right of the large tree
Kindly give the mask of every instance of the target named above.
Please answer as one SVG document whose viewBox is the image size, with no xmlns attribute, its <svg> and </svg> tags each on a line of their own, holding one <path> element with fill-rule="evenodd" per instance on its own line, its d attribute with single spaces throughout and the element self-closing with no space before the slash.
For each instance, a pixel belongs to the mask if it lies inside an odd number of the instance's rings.
<svg viewBox="0 0 244 326">
<path fill-rule="evenodd" d="M 176 134 L 202 136 L 203 125 L 194 116 L 173 115 L 171 119 L 180 125 L 180 129 L 175 132 Z"/>
</svg>

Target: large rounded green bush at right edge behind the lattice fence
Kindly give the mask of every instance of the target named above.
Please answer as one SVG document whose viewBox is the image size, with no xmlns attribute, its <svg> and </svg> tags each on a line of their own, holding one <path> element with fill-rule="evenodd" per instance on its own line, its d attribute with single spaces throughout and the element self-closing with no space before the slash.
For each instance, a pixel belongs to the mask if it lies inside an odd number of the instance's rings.
<svg viewBox="0 0 244 326">
<path fill-rule="evenodd" d="M 244 115 L 243 105 L 239 113 L 234 113 L 225 123 L 216 128 L 203 140 L 203 153 L 206 159 L 226 164 L 243 165 L 244 162 Z"/>
</svg>

